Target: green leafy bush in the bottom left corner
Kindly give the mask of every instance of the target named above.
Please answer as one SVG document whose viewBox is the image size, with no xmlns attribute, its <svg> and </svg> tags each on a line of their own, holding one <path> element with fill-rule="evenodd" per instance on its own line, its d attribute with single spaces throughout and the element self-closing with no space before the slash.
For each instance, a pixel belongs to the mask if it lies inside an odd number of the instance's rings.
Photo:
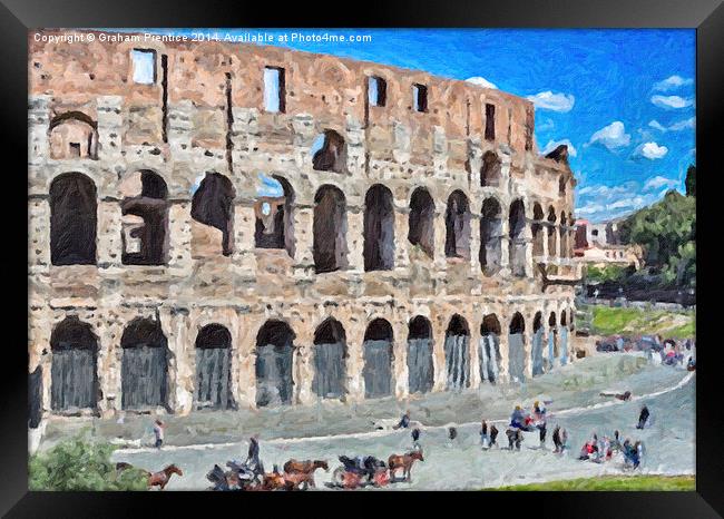
<svg viewBox="0 0 724 519">
<path fill-rule="evenodd" d="M 30 490 L 146 490 L 147 476 L 130 468 L 116 471 L 109 443 L 77 437 L 30 457 Z"/>
</svg>

